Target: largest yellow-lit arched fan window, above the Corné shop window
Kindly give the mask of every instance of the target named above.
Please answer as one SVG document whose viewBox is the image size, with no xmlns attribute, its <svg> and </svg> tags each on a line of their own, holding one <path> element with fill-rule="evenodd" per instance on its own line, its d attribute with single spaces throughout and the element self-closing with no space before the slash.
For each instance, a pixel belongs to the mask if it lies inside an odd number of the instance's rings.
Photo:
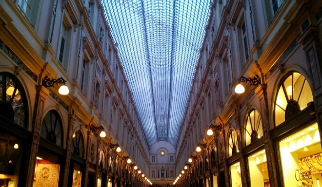
<svg viewBox="0 0 322 187">
<path fill-rule="evenodd" d="M 275 126 L 294 117 L 313 101 L 310 86 L 305 77 L 293 72 L 282 80 L 274 102 Z"/>
</svg>

